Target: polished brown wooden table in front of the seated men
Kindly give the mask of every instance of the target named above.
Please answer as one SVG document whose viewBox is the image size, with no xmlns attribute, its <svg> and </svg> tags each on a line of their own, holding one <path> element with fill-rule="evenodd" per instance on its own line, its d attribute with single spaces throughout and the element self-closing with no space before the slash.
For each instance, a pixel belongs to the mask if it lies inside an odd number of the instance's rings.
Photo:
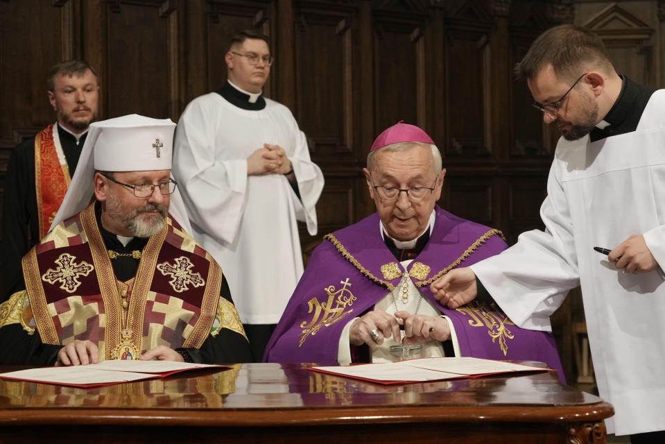
<svg viewBox="0 0 665 444">
<path fill-rule="evenodd" d="M 242 364 L 86 389 L 0 379 L 1 443 L 605 443 L 612 414 L 550 373 L 381 386 Z"/>
</svg>

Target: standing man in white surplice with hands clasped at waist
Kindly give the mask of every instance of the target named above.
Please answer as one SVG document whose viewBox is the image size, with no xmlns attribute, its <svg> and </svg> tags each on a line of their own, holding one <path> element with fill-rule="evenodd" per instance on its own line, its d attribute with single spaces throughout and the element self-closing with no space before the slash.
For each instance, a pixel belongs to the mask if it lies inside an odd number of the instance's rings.
<svg viewBox="0 0 665 444">
<path fill-rule="evenodd" d="M 227 83 L 180 117 L 173 172 L 193 236 L 223 267 L 261 361 L 302 275 L 297 220 L 316 234 L 323 175 L 291 111 L 261 94 L 273 62 L 268 38 L 234 35 L 225 60 Z"/>
</svg>

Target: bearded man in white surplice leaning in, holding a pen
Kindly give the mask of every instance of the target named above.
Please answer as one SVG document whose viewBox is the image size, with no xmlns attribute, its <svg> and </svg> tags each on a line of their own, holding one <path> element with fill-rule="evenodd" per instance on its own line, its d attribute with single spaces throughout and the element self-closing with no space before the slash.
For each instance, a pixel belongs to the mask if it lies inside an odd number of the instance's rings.
<svg viewBox="0 0 665 444">
<path fill-rule="evenodd" d="M 432 291 L 454 308 L 483 285 L 517 325 L 549 330 L 581 284 L 598 391 L 616 413 L 607 432 L 665 442 L 665 90 L 616 74 L 603 42 L 572 25 L 538 37 L 516 71 L 563 133 L 540 210 L 546 229 Z"/>
</svg>

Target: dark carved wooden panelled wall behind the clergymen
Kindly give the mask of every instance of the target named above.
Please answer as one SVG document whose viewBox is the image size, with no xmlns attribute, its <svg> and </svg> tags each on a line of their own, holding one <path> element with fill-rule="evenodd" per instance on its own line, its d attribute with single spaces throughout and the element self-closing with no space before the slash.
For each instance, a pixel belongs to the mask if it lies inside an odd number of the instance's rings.
<svg viewBox="0 0 665 444">
<path fill-rule="evenodd" d="M 633 0 L 0 0 L 0 198 L 12 148 L 55 119 L 44 78 L 56 62 L 96 68 L 100 119 L 178 121 L 225 81 L 230 35 L 257 28 L 275 56 L 266 95 L 291 108 L 325 175 L 319 234 L 301 231 L 306 255 L 373 212 L 361 168 L 402 119 L 442 152 L 440 205 L 513 243 L 542 225 L 557 139 L 515 62 L 544 29 L 574 22 L 603 37 L 619 71 L 662 85 L 664 19 L 665 1 Z"/>
</svg>

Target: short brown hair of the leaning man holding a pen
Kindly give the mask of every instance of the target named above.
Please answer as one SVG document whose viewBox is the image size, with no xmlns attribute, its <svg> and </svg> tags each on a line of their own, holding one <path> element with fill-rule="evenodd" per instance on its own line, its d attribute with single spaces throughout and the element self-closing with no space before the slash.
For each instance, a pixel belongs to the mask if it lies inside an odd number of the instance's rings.
<svg viewBox="0 0 665 444">
<path fill-rule="evenodd" d="M 578 71 L 585 62 L 614 70 L 598 35 L 581 26 L 565 24 L 549 28 L 538 36 L 526 56 L 515 65 L 515 76 L 531 80 L 545 65 L 551 64 L 558 78 L 573 79 L 583 74 Z"/>
</svg>

